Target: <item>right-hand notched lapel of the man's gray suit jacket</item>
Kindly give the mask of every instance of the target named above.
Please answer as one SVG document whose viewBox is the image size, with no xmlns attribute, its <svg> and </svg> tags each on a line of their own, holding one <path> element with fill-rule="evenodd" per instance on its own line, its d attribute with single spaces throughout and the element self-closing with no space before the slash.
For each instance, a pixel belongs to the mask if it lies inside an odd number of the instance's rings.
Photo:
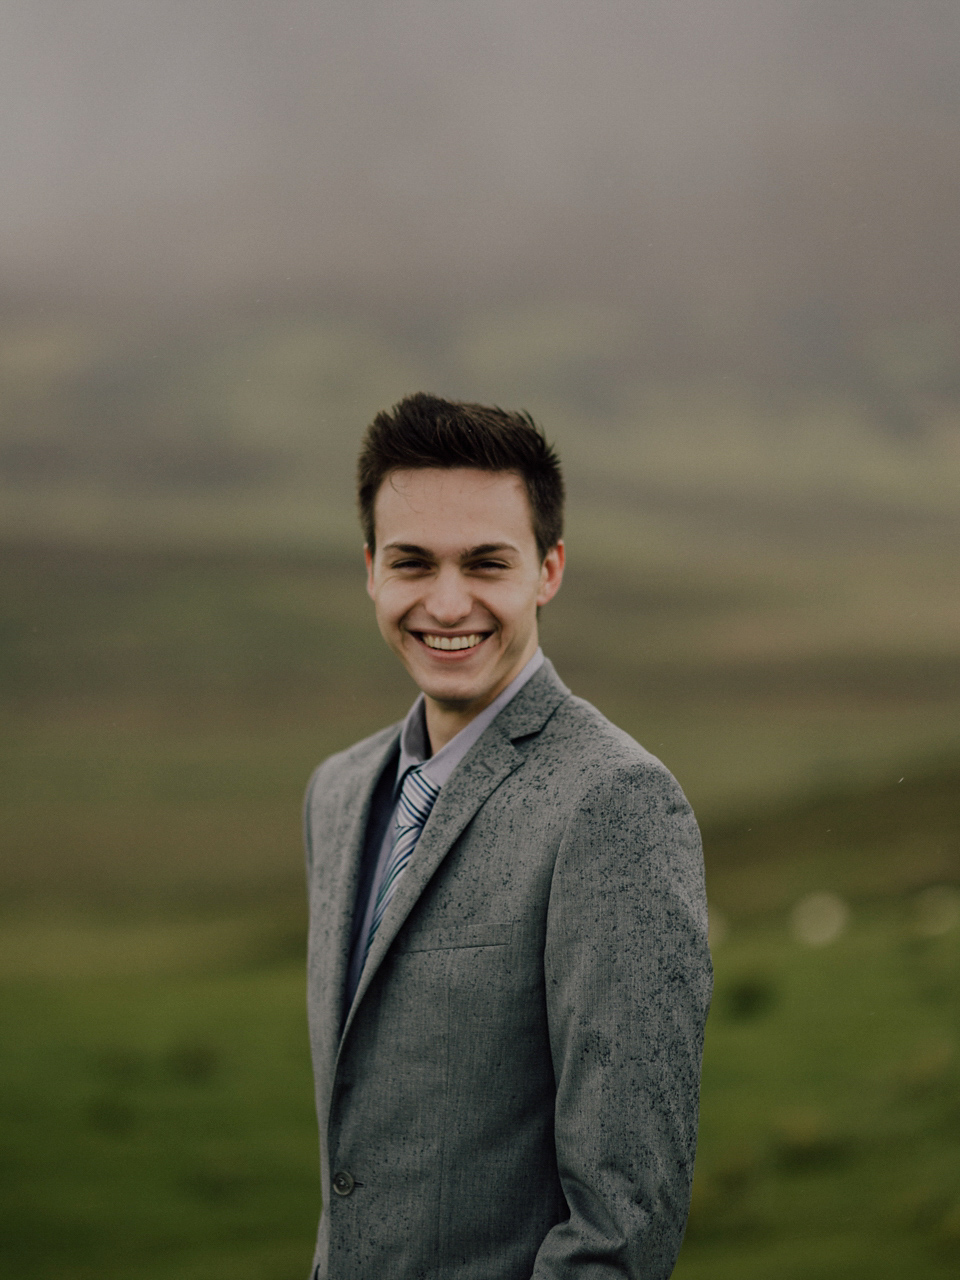
<svg viewBox="0 0 960 1280">
<path fill-rule="evenodd" d="M 403 872 L 397 891 L 380 922 L 380 928 L 376 931 L 343 1025 L 340 1043 L 343 1043 L 357 1006 L 370 987 L 390 943 L 434 872 L 477 809 L 522 763 L 524 753 L 513 746 L 512 739 L 539 732 L 568 692 L 570 690 L 561 682 L 553 666 L 544 662 L 540 671 L 503 708 L 440 790 L 407 869 Z M 348 945 L 348 940 L 349 925 L 347 925 L 344 946 Z"/>
</svg>

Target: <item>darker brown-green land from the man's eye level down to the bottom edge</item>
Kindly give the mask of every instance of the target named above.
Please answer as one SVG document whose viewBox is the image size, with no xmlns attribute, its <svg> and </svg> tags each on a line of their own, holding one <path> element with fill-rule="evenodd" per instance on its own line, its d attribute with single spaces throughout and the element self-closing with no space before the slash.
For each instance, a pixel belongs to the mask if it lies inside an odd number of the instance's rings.
<svg viewBox="0 0 960 1280">
<path fill-rule="evenodd" d="M 960 654 L 936 600 L 895 627 L 933 577 L 893 598 L 878 554 L 780 563 L 598 557 L 543 620 L 705 828 L 717 998 L 677 1275 L 938 1280 L 960 1266 Z M 300 797 L 412 687 L 339 553 L 9 544 L 0 572 L 4 1274 L 296 1280 Z"/>
</svg>

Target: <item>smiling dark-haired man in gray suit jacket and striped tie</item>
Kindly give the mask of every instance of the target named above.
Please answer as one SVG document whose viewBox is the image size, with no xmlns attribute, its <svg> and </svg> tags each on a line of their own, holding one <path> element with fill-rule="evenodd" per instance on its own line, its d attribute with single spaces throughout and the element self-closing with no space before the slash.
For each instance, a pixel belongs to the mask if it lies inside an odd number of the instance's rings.
<svg viewBox="0 0 960 1280">
<path fill-rule="evenodd" d="M 367 590 L 421 694 L 307 790 L 317 1280 L 673 1270 L 700 842 L 663 765 L 540 653 L 562 502 L 525 415 L 420 394 L 367 431 Z"/>
</svg>

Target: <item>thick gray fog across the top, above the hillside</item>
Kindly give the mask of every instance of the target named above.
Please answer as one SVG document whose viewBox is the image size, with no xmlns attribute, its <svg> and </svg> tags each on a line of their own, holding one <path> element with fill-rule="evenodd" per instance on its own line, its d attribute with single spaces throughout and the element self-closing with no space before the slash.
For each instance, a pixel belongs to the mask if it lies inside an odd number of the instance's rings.
<svg viewBox="0 0 960 1280">
<path fill-rule="evenodd" d="M 0 114 L 8 308 L 586 296 L 774 379 L 956 338 L 942 0 L 6 0 Z"/>
</svg>

